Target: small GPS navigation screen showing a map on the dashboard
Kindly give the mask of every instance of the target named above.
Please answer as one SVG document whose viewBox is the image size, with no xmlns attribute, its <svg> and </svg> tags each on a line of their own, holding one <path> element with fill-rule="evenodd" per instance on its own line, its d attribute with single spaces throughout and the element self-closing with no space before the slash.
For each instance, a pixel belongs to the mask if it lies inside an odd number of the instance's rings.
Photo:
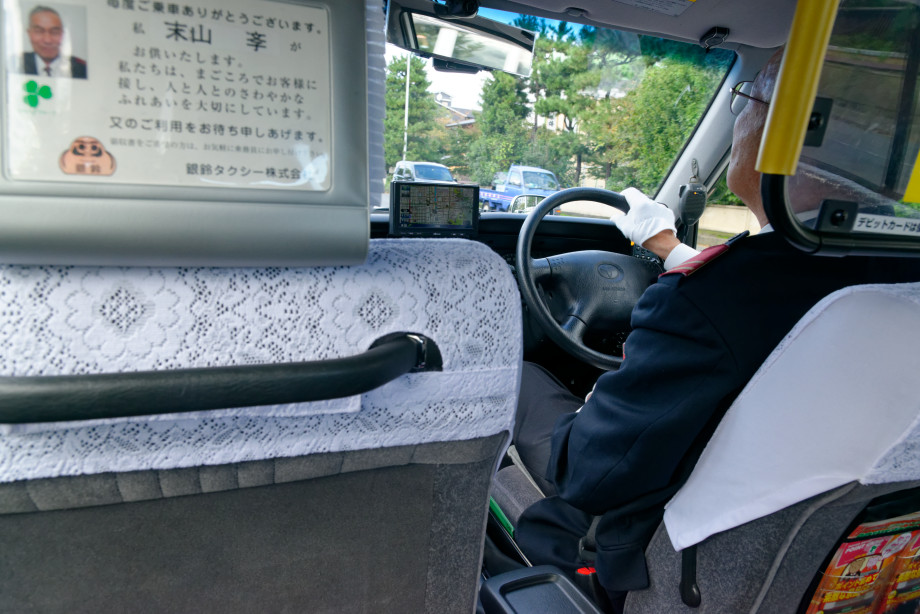
<svg viewBox="0 0 920 614">
<path fill-rule="evenodd" d="M 479 225 L 479 186 L 396 181 L 390 234 L 471 237 Z"/>
</svg>

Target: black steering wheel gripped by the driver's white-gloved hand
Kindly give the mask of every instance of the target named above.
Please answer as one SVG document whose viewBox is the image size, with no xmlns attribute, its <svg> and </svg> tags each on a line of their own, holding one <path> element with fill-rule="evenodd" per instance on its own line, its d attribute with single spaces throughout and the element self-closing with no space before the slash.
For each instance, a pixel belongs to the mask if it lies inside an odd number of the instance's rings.
<svg viewBox="0 0 920 614">
<path fill-rule="evenodd" d="M 518 285 L 530 313 L 559 347 L 595 367 L 616 369 L 623 358 L 589 348 L 585 333 L 628 331 L 633 306 L 662 269 L 650 260 L 598 250 L 531 259 L 530 249 L 540 221 L 556 207 L 575 200 L 629 211 L 626 199 L 608 190 L 569 188 L 548 196 L 527 216 L 518 235 Z"/>
</svg>

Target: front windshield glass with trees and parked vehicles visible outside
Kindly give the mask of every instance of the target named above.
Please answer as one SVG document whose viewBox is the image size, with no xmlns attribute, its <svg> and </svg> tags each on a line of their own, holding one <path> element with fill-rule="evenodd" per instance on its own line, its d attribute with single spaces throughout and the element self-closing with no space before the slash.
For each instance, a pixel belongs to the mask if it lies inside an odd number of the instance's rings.
<svg viewBox="0 0 920 614">
<path fill-rule="evenodd" d="M 526 166 L 545 172 L 524 171 L 516 193 L 634 186 L 655 194 L 734 61 L 727 50 L 707 53 L 653 36 L 482 13 L 537 33 L 530 76 L 438 72 L 430 60 L 388 45 L 391 173 L 400 160 L 438 160 L 454 180 L 479 185 L 482 197 L 509 185 L 512 167 Z M 508 184 L 496 181 L 500 173 L 508 173 Z M 421 167 L 418 176 L 424 177 Z M 508 202 L 492 210 L 507 210 L 515 195 L 502 193 Z M 389 202 L 386 194 L 381 202 Z M 606 207 L 568 209 L 563 215 L 609 216 Z"/>
</svg>

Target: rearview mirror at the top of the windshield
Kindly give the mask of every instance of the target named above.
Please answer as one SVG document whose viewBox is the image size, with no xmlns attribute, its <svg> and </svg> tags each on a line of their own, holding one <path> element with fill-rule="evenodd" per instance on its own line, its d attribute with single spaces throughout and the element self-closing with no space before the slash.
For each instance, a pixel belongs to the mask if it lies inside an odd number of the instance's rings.
<svg viewBox="0 0 920 614">
<path fill-rule="evenodd" d="M 502 70 L 530 75 L 536 34 L 485 17 L 441 16 L 427 0 L 389 1 L 387 42 L 442 60 L 436 67 L 469 71 Z M 459 66 L 457 66 L 459 65 Z"/>
</svg>

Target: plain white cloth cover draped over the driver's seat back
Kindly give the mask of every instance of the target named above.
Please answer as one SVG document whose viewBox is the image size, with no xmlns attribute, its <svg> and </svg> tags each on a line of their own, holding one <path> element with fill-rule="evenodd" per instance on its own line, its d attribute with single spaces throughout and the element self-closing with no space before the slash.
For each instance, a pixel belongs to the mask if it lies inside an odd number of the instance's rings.
<svg viewBox="0 0 920 614">
<path fill-rule="evenodd" d="M 664 522 L 682 550 L 858 481 L 920 479 L 920 284 L 840 290 L 731 406 Z"/>
</svg>

